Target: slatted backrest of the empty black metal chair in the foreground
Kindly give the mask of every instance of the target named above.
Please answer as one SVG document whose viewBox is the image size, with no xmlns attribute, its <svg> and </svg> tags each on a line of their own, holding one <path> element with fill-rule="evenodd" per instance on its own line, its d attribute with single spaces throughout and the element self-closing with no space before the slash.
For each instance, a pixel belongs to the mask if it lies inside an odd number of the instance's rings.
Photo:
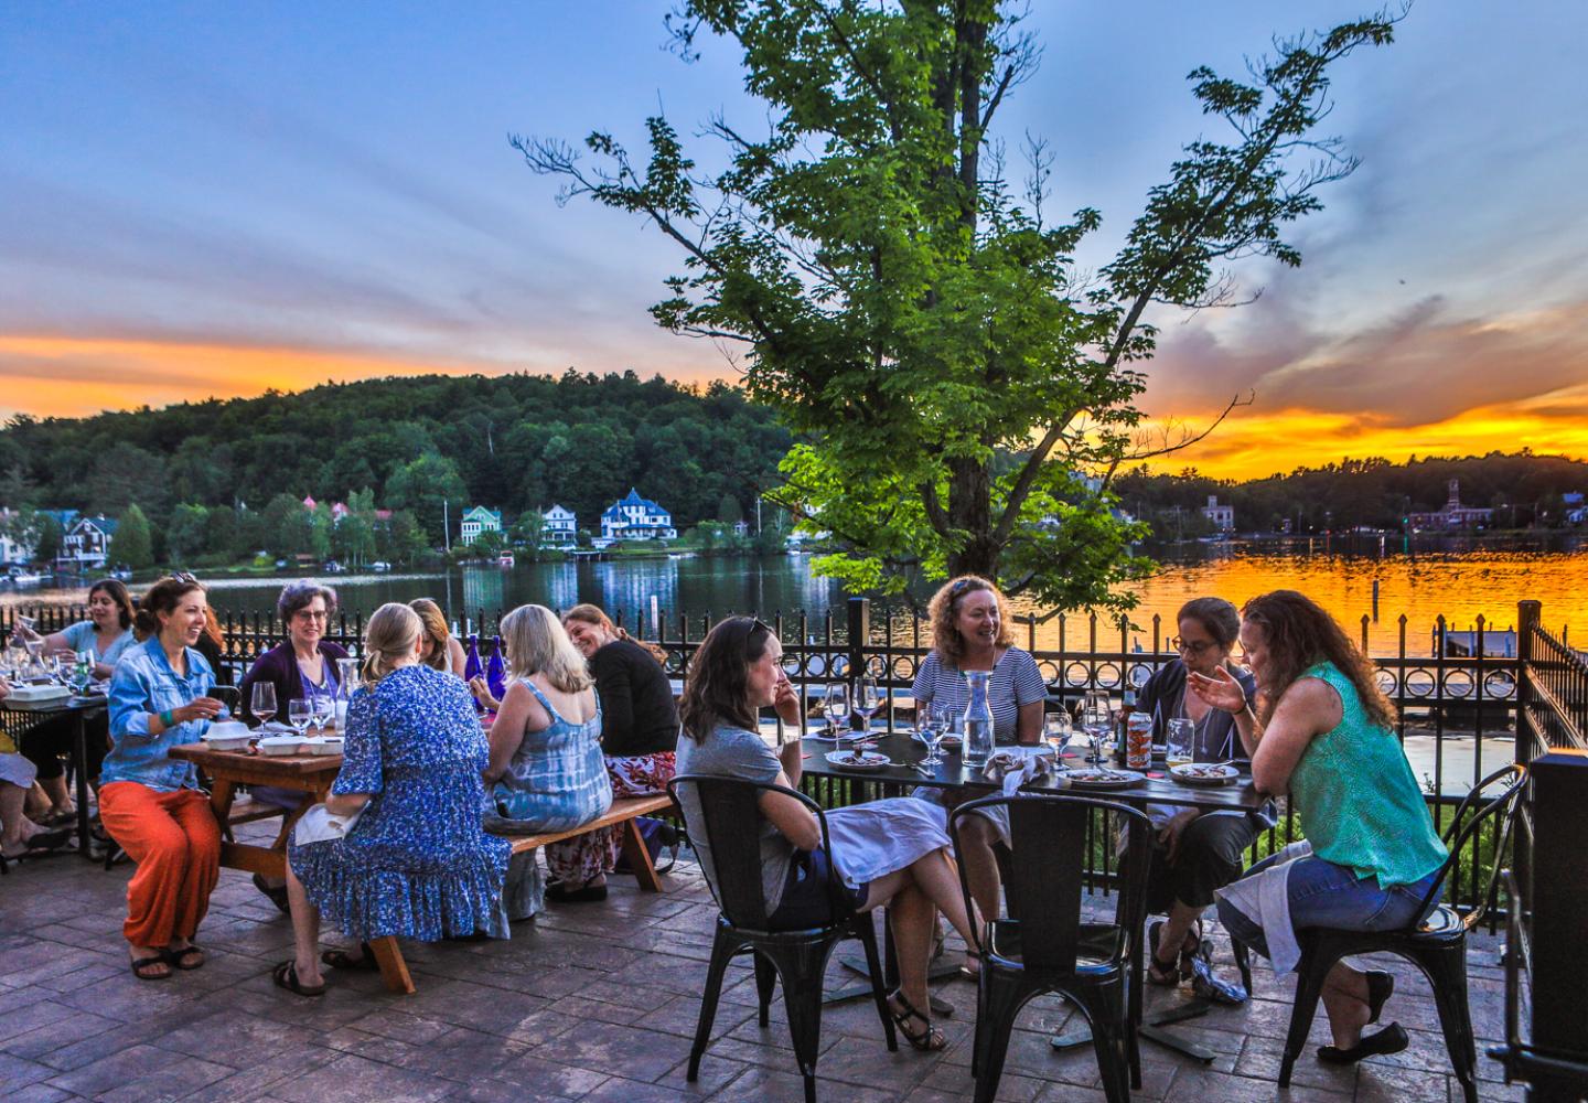
<svg viewBox="0 0 1588 1103">
<path fill-rule="evenodd" d="M 1093 831 L 1094 812 L 1112 812 L 1127 825 L 1127 855 L 1120 869 L 1120 904 L 1115 922 L 1126 938 L 1115 947 L 1113 962 L 1124 957 L 1129 939 L 1137 938 L 1147 915 L 1147 873 L 1150 868 L 1151 820 L 1116 801 L 1086 796 L 1019 795 L 969 801 L 948 817 L 948 834 L 959 858 L 959 885 L 966 908 L 972 908 L 959 826 L 978 809 L 1007 807 L 1013 860 L 1004 882 L 1010 919 L 1019 923 L 1019 946 L 1031 968 L 1073 971 L 1080 950 L 1081 903 L 1086 852 L 1094 839 L 1112 833 Z M 1107 842 L 1104 846 L 1108 846 Z M 983 915 L 983 922 L 996 917 Z M 985 949 L 977 931 L 977 949 Z"/>
</svg>

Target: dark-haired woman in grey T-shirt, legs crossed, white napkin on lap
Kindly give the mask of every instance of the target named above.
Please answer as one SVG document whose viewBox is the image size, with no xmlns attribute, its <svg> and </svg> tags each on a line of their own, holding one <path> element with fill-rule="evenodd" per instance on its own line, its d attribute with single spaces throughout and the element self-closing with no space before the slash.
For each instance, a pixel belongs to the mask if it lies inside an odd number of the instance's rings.
<svg viewBox="0 0 1588 1103">
<path fill-rule="evenodd" d="M 683 739 L 678 774 L 740 777 L 797 788 L 799 739 L 773 750 L 759 731 L 762 709 L 804 730 L 799 696 L 783 672 L 783 645 L 751 617 L 729 617 L 702 641 L 689 663 L 680 704 Z M 711 849 L 702 825 L 699 793 L 678 787 L 689 838 L 708 880 L 715 882 Z M 759 825 L 761 890 L 772 930 L 804 930 L 827 922 L 832 879 L 856 912 L 888 906 L 899 952 L 899 990 L 889 1012 L 905 1039 L 921 1051 L 943 1049 L 943 1033 L 927 1019 L 926 969 L 937 912 L 972 944 L 959 877 L 948 857 L 942 812 L 926 801 L 896 798 L 827 812 L 832 853 L 821 849 L 821 823 L 792 796 L 762 790 Z"/>
</svg>

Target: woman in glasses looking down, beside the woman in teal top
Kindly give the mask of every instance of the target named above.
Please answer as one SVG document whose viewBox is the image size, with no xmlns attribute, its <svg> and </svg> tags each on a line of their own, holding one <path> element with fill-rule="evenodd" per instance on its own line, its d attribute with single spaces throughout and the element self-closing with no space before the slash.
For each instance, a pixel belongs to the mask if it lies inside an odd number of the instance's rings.
<svg viewBox="0 0 1588 1103">
<path fill-rule="evenodd" d="M 1153 717 L 1154 742 L 1164 742 L 1170 720 L 1188 720 L 1193 761 L 1243 757 L 1234 717 L 1186 693 L 1188 674 L 1213 677 L 1216 669 L 1224 669 L 1248 698 L 1256 695 L 1256 679 L 1229 658 L 1240 633 L 1240 613 L 1223 598 L 1193 598 L 1175 613 L 1175 625 L 1180 634 L 1172 645 L 1178 656 L 1158 668 L 1142 687 L 1137 710 Z M 1202 944 L 1201 915 L 1213 904 L 1213 890 L 1240 877 L 1242 855 L 1259 831 L 1274 825 L 1274 811 L 1201 814 L 1159 806 L 1148 811 L 1159 828 L 1147 911 L 1167 912 L 1169 919 L 1151 927 L 1147 979 L 1174 985 L 1191 976 L 1191 957 Z"/>
</svg>

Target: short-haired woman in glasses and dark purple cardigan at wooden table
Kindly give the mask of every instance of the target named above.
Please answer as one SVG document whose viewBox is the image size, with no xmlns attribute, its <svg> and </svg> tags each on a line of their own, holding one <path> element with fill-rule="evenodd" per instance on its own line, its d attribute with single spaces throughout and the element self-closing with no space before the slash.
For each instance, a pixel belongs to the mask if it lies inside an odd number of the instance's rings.
<svg viewBox="0 0 1588 1103">
<path fill-rule="evenodd" d="M 276 688 L 276 709 L 286 717 L 287 706 L 308 696 L 337 696 L 337 660 L 348 658 L 337 644 L 326 642 L 326 628 L 337 613 L 337 591 L 313 579 L 294 579 L 276 598 L 276 613 L 286 625 L 287 637 L 254 660 L 243 675 L 243 718 L 260 723 L 252 714 L 254 685 L 267 682 Z M 254 799 L 283 807 L 297 807 L 302 793 L 272 787 L 254 787 Z M 254 874 L 254 887 L 287 911 L 287 887 L 279 877 Z"/>
</svg>

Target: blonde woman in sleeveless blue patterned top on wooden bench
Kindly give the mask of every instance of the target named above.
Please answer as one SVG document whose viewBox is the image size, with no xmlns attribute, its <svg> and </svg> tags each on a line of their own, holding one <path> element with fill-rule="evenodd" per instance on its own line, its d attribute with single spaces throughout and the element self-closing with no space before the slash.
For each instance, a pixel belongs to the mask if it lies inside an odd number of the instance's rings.
<svg viewBox="0 0 1588 1103">
<path fill-rule="evenodd" d="M 503 617 L 502 645 L 511 682 L 491 725 L 486 784 L 497 819 L 489 826 L 538 834 L 599 819 L 611 807 L 611 782 L 600 750 L 600 704 L 584 656 L 545 606 L 521 606 Z M 605 898 L 599 861 L 559 868 L 549 852 L 546 861 L 554 884 L 562 887 L 554 898 Z M 524 911 L 511 904 L 515 896 L 522 898 L 522 876 L 537 874 L 510 873 L 510 912 Z"/>
</svg>

